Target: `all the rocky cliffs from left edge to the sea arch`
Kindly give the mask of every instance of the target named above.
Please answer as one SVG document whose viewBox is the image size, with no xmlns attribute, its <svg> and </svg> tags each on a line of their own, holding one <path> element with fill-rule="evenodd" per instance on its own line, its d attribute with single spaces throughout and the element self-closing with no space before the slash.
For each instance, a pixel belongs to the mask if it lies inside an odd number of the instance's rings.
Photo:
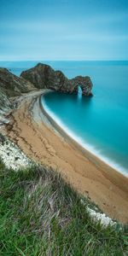
<svg viewBox="0 0 128 256">
<path fill-rule="evenodd" d="M 65 93 L 78 93 L 79 86 L 84 96 L 91 96 L 90 77 L 78 76 L 67 79 L 61 71 L 55 71 L 49 65 L 38 63 L 36 67 L 20 74 L 20 78 L 0 67 L 0 124 L 8 123 L 8 115 L 14 108 L 10 97 L 21 93 L 48 88 Z"/>
</svg>

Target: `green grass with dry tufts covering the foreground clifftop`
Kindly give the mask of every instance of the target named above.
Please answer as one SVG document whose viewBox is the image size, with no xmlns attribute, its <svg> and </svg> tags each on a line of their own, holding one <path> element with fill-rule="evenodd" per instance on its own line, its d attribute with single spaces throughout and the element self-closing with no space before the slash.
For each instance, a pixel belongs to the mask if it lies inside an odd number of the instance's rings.
<svg viewBox="0 0 128 256">
<path fill-rule="evenodd" d="M 0 160 L 0 255 L 127 255 L 126 227 L 93 223 L 84 202 L 55 172 Z"/>
</svg>

